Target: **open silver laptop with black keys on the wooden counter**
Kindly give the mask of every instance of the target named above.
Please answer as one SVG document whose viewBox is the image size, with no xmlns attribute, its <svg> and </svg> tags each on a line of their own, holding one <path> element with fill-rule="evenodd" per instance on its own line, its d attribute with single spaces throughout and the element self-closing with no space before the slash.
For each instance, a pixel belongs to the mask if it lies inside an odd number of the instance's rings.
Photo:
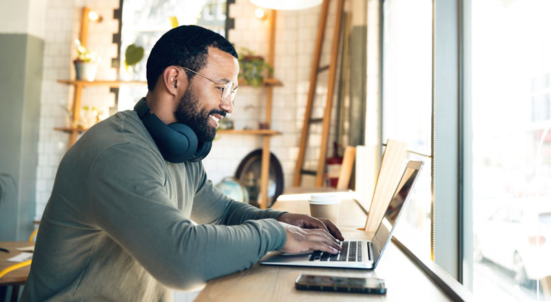
<svg viewBox="0 0 551 302">
<path fill-rule="evenodd" d="M 422 161 L 410 161 L 402 178 L 397 184 L 393 199 L 388 203 L 386 212 L 373 239 L 342 241 L 342 251 L 333 255 L 320 251 L 309 251 L 299 254 L 272 252 L 260 259 L 260 263 L 268 265 L 298 265 L 323 268 L 363 268 L 373 270 L 379 263 L 384 248 L 391 241 L 396 223 L 404 210 L 413 185 L 423 166 Z"/>
</svg>

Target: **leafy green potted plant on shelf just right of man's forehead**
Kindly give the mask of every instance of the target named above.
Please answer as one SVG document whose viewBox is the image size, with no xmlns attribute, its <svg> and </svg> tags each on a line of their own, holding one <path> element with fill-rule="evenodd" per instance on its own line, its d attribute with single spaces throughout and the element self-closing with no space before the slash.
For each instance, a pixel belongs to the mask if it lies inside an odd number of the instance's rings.
<svg viewBox="0 0 551 302">
<path fill-rule="evenodd" d="M 254 88 L 258 88 L 262 84 L 265 75 L 273 74 L 273 68 L 264 61 L 264 58 L 247 48 L 241 48 L 239 68 L 239 77 L 244 79 L 247 85 L 252 85 Z"/>
</svg>

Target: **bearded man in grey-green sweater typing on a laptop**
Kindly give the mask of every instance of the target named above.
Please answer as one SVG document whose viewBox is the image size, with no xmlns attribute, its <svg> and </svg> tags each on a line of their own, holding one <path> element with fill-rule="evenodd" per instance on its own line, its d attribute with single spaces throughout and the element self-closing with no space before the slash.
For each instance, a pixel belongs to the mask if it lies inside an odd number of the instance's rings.
<svg viewBox="0 0 551 302">
<path fill-rule="evenodd" d="M 233 111 L 238 72 L 233 46 L 210 30 L 159 39 L 135 111 L 87 130 L 63 157 L 23 301 L 169 301 L 170 288 L 193 290 L 271 250 L 340 250 L 331 221 L 258 210 L 207 179 L 200 159 Z"/>
</svg>

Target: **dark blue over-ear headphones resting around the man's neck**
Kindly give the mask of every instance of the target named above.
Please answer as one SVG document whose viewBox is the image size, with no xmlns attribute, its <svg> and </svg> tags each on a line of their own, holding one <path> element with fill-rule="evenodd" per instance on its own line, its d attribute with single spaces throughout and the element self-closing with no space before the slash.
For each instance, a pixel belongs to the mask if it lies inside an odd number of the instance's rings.
<svg viewBox="0 0 551 302">
<path fill-rule="evenodd" d="M 201 161 L 211 151 L 211 141 L 198 141 L 194 130 L 183 123 L 165 124 L 149 112 L 145 98 L 134 106 L 147 132 L 151 134 L 160 154 L 171 163 Z"/>
</svg>

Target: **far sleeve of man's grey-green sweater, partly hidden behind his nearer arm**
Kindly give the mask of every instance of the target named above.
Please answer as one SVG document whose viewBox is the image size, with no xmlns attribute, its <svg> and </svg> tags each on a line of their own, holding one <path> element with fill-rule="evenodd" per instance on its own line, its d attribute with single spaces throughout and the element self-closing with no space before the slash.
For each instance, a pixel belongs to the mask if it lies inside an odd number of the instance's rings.
<svg viewBox="0 0 551 302">
<path fill-rule="evenodd" d="M 277 219 L 285 213 L 278 210 L 260 210 L 253 205 L 234 201 L 220 192 L 207 179 L 207 174 L 201 165 L 198 175 L 199 186 L 194 198 L 191 219 L 197 223 L 239 225 L 247 220 Z"/>
</svg>

